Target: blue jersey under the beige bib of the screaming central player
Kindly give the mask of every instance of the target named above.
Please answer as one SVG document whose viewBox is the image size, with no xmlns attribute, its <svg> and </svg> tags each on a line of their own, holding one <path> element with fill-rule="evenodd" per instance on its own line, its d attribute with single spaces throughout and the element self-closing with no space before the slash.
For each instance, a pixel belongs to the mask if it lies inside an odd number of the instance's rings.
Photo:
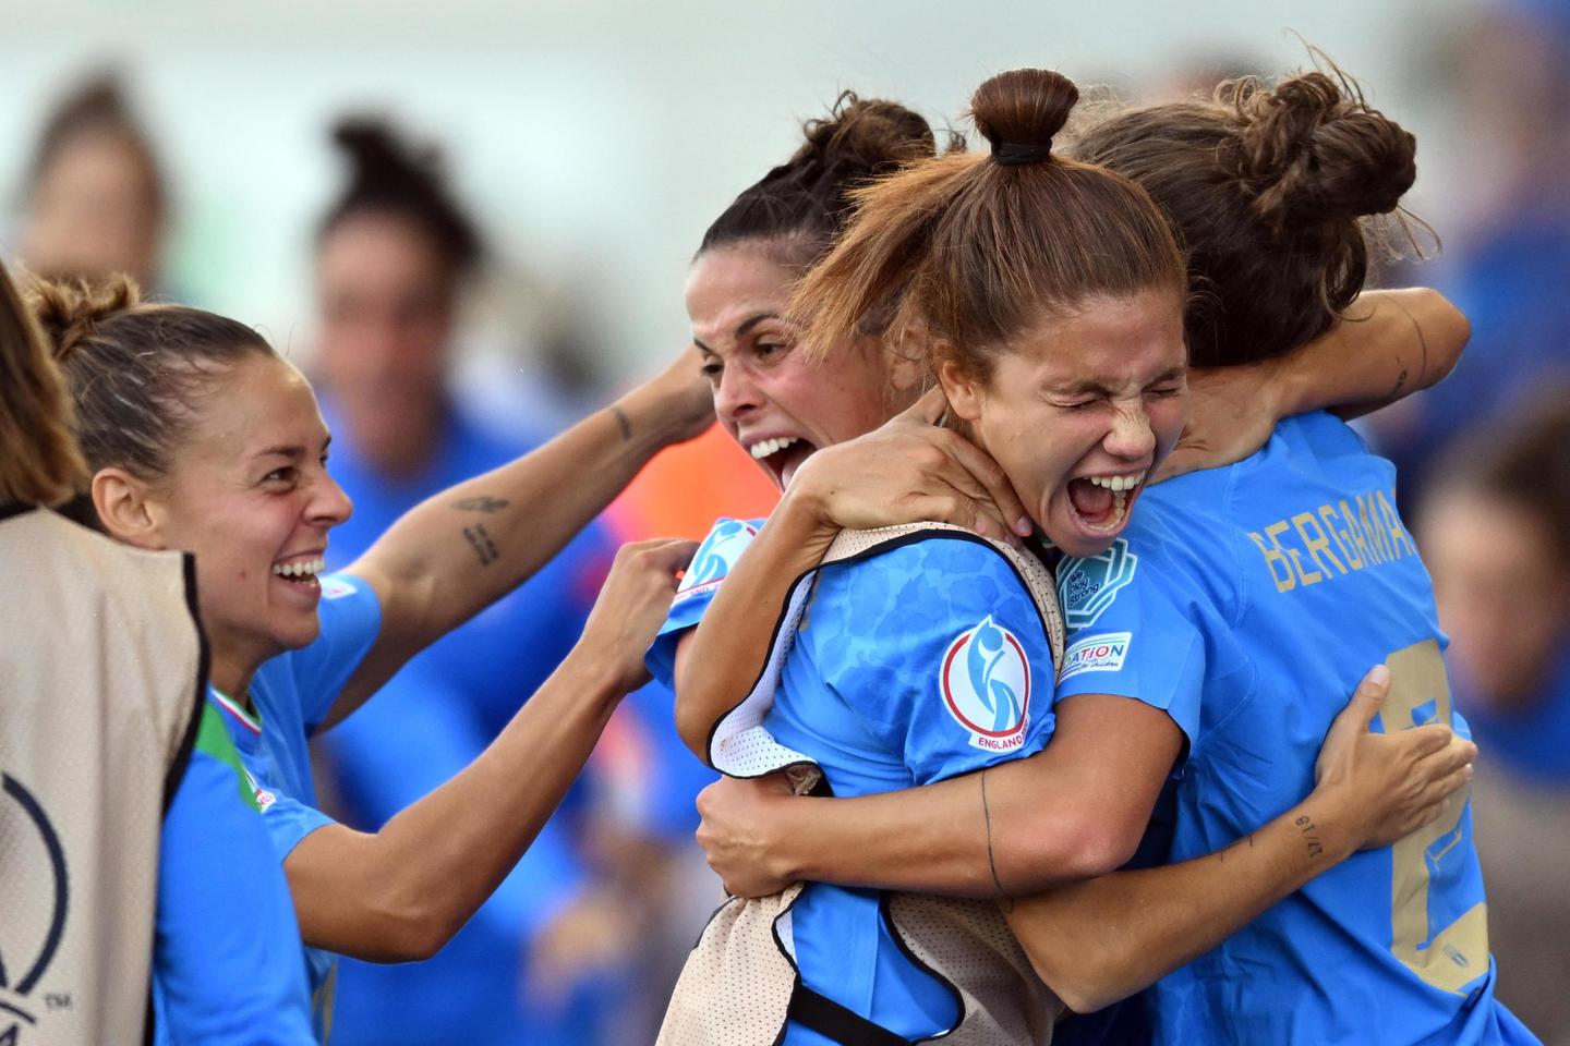
<svg viewBox="0 0 1570 1046">
<path fill-rule="evenodd" d="M 1052 734 L 1052 649 L 1014 568 L 939 532 L 818 572 L 765 728 L 835 795 L 907 789 L 1033 754 Z M 980 812 L 978 812 L 980 815 Z M 823 883 L 791 910 L 802 982 L 906 1038 L 958 1022 L 896 942 L 881 894 Z M 820 1043 L 791 1026 L 787 1043 Z"/>
</svg>

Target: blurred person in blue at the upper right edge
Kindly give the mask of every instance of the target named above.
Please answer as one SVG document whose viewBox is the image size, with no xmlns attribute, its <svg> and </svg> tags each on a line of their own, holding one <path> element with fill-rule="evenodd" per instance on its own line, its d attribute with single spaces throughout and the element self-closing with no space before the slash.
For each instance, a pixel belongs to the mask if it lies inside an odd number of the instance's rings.
<svg viewBox="0 0 1570 1046">
<path fill-rule="evenodd" d="M 1468 315 L 1454 381 L 1369 419 L 1411 511 L 1470 425 L 1509 419 L 1545 380 L 1570 381 L 1570 5 L 1498 0 L 1449 42 L 1460 141 L 1457 227 L 1429 273 Z"/>
</svg>

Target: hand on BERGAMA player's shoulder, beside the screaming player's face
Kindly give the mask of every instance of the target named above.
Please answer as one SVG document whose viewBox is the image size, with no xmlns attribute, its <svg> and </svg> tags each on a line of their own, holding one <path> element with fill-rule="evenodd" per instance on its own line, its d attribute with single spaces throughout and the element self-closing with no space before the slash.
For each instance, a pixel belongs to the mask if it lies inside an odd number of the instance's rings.
<svg viewBox="0 0 1570 1046">
<path fill-rule="evenodd" d="M 1242 461 L 1281 420 L 1276 361 L 1188 372 L 1188 422 L 1152 483 Z"/>
</svg>

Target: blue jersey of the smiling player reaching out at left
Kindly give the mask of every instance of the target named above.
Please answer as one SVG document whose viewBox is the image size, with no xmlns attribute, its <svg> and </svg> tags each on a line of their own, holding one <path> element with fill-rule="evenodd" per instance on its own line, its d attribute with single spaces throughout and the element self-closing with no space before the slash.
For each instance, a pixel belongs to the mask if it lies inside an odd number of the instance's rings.
<svg viewBox="0 0 1570 1046">
<path fill-rule="evenodd" d="M 256 717 L 229 695 L 210 692 L 225 715 L 229 737 L 251 776 L 262 823 L 284 861 L 308 834 L 333 819 L 316 808 L 316 783 L 306 739 L 322 725 L 349 677 L 360 668 L 382 629 L 382 605 L 371 585 L 349 574 L 322 577 L 317 612 L 322 632 L 309 646 L 279 654 L 251 677 Z M 331 1024 L 331 952 L 306 947 L 311 1016 L 319 1040 Z"/>
</svg>

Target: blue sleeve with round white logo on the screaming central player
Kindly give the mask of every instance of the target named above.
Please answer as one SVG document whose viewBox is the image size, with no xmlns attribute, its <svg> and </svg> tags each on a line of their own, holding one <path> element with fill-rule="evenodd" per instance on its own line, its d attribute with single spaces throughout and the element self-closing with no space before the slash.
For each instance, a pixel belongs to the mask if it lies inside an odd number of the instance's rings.
<svg viewBox="0 0 1570 1046">
<path fill-rule="evenodd" d="M 1052 734 L 1041 612 L 983 541 L 928 538 L 824 566 L 802 641 L 917 784 L 1028 756 Z"/>
</svg>

